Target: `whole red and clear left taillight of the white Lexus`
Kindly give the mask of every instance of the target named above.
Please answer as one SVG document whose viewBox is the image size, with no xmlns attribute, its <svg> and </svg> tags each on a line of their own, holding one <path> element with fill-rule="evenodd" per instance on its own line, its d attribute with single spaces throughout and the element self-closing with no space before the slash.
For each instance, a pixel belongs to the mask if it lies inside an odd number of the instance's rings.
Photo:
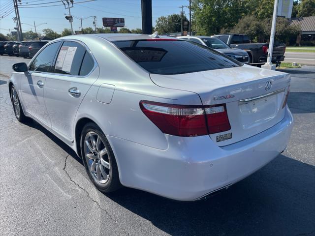
<svg viewBox="0 0 315 236">
<path fill-rule="evenodd" d="M 191 137 L 231 128 L 224 104 L 186 106 L 140 101 L 140 108 L 164 134 Z"/>
</svg>

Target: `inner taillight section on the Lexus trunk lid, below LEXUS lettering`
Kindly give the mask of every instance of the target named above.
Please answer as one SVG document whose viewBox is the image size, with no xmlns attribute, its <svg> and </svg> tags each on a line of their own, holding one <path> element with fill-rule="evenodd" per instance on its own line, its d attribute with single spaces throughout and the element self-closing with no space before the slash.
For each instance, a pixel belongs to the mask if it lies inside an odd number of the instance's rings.
<svg viewBox="0 0 315 236">
<path fill-rule="evenodd" d="M 220 133 L 231 129 L 225 104 L 205 107 L 209 134 Z"/>
</svg>

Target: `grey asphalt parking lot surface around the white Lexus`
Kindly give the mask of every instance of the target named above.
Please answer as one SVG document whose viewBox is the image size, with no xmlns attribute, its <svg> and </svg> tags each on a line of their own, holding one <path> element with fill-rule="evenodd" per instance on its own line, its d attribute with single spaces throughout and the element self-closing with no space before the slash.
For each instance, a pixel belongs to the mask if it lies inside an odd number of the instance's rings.
<svg viewBox="0 0 315 236">
<path fill-rule="evenodd" d="M 83 163 L 36 122 L 19 123 L 0 56 L 0 235 L 315 235 L 315 66 L 292 75 L 287 150 L 207 200 L 182 203 L 123 188 L 98 192 Z"/>
</svg>

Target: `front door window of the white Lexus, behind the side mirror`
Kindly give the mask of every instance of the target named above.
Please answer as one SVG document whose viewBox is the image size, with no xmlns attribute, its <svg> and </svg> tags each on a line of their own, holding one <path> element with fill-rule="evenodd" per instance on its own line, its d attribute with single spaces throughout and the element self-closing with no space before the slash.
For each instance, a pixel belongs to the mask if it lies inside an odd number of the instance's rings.
<svg viewBox="0 0 315 236">
<path fill-rule="evenodd" d="M 44 48 L 33 60 L 30 71 L 52 72 L 53 61 L 61 42 L 56 42 Z"/>
</svg>

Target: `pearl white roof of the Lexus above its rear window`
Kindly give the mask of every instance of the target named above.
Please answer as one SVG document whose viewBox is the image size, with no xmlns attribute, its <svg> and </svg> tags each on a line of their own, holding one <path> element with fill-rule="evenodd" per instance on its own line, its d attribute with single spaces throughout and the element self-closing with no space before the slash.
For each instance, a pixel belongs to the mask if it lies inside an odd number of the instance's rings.
<svg viewBox="0 0 315 236">
<path fill-rule="evenodd" d="M 77 34 L 77 35 L 69 35 L 65 36 L 62 39 L 82 39 L 82 38 L 91 38 L 91 37 L 101 37 L 108 41 L 127 41 L 127 40 L 146 40 L 146 39 L 154 39 L 154 36 L 150 36 L 149 34 L 138 34 L 138 33 L 96 33 L 96 34 Z M 176 39 L 174 37 L 162 36 L 158 35 L 159 38 L 169 38 Z"/>
</svg>

